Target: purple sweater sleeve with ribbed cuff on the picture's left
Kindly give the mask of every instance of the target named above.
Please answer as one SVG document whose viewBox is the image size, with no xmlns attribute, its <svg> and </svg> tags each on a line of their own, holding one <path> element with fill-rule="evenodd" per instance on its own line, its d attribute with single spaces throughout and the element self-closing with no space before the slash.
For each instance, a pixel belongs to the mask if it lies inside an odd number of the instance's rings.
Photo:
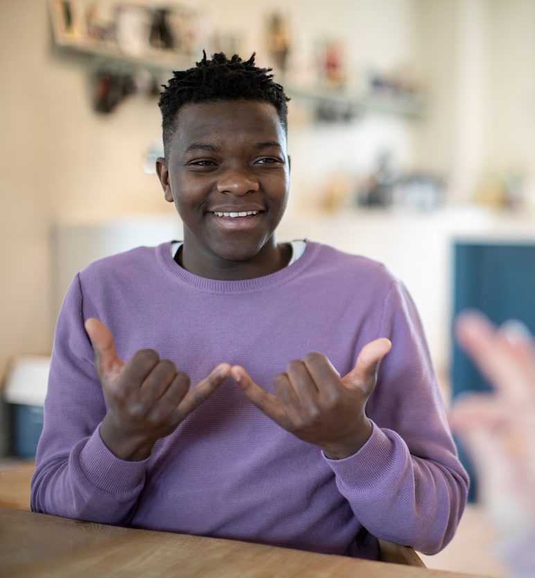
<svg viewBox="0 0 535 578">
<path fill-rule="evenodd" d="M 118 459 L 100 439 L 106 407 L 82 309 L 76 275 L 55 332 L 31 508 L 68 518 L 125 524 L 143 489 L 146 461 Z"/>
</svg>

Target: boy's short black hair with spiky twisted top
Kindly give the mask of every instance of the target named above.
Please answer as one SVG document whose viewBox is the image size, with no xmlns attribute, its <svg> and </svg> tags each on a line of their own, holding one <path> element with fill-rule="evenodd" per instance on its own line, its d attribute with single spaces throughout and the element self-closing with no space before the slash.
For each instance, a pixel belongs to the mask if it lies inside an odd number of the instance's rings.
<svg viewBox="0 0 535 578">
<path fill-rule="evenodd" d="M 285 131 L 288 130 L 288 105 L 290 99 L 281 85 L 273 80 L 271 68 L 258 68 L 252 54 L 249 60 L 242 60 L 234 54 L 229 60 L 225 53 L 213 54 L 211 60 L 202 51 L 203 58 L 195 67 L 173 72 L 173 78 L 164 85 L 159 97 L 161 127 L 164 137 L 164 152 L 177 128 L 177 112 L 189 103 L 216 100 L 235 101 L 247 99 L 271 103 Z"/>
</svg>

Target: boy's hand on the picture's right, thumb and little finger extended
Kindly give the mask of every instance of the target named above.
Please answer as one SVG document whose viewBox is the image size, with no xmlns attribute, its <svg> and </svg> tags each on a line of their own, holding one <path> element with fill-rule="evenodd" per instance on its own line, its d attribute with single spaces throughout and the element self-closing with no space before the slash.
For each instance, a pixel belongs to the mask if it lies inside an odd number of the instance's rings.
<svg viewBox="0 0 535 578">
<path fill-rule="evenodd" d="M 330 459 L 358 452 L 371 435 L 366 402 L 377 379 L 379 362 L 392 348 L 384 337 L 365 345 L 355 367 L 344 377 L 321 353 L 288 364 L 274 378 L 276 396 L 261 389 L 243 367 L 232 376 L 258 409 L 299 439 L 321 448 Z"/>
</svg>

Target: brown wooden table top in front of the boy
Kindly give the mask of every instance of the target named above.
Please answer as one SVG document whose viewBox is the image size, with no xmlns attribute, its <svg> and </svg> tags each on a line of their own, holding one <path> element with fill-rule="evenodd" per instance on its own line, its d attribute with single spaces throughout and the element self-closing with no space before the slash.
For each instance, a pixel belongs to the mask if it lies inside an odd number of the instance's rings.
<svg viewBox="0 0 535 578">
<path fill-rule="evenodd" d="M 0 577 L 476 578 L 0 507 Z M 478 577 L 481 578 L 481 577 Z"/>
</svg>

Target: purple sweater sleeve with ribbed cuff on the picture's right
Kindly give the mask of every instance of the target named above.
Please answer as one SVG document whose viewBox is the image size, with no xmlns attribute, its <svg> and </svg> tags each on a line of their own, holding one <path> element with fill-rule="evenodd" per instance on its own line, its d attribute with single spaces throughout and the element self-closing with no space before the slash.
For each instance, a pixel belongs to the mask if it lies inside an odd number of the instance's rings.
<svg viewBox="0 0 535 578">
<path fill-rule="evenodd" d="M 367 403 L 371 437 L 353 456 L 324 459 L 368 532 L 434 554 L 457 529 L 468 476 L 457 459 L 419 316 L 400 282 L 387 295 L 378 337 L 388 337 L 392 350 Z"/>
</svg>

